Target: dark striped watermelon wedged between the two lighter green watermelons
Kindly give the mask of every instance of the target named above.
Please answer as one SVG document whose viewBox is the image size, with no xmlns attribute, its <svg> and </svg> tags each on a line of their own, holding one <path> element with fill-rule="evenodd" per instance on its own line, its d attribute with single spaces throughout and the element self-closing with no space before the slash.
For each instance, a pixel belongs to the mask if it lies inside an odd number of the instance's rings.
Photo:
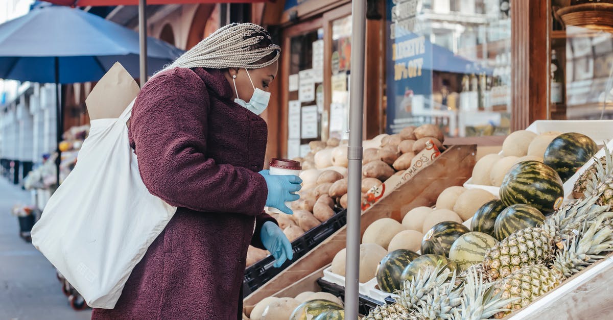
<svg viewBox="0 0 613 320">
<path fill-rule="evenodd" d="M 468 232 L 470 230 L 467 227 L 455 221 L 443 221 L 435 224 L 422 239 L 421 253 L 447 256 L 455 239 Z"/>
</svg>

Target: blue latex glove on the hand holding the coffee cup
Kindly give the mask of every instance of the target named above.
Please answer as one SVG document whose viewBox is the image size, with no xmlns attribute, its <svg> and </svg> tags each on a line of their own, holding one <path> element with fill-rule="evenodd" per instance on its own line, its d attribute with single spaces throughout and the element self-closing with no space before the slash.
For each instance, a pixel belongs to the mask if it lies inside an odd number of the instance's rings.
<svg viewBox="0 0 613 320">
<path fill-rule="evenodd" d="M 293 192 L 300 191 L 302 179 L 297 175 L 271 175 L 268 170 L 262 170 L 259 173 L 264 177 L 268 186 L 266 207 L 277 208 L 288 215 L 293 215 L 294 211 L 287 208 L 285 202 L 300 199 L 300 196 Z"/>
</svg>

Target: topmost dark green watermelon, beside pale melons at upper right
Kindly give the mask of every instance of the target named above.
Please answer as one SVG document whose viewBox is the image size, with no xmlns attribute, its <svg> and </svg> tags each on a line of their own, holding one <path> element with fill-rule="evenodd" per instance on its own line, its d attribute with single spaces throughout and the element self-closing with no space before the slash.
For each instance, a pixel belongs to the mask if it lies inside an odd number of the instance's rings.
<svg viewBox="0 0 613 320">
<path fill-rule="evenodd" d="M 545 150 L 544 162 L 560 175 L 562 181 L 574 173 L 598 152 L 598 146 L 587 135 L 577 132 L 560 134 Z"/>
</svg>

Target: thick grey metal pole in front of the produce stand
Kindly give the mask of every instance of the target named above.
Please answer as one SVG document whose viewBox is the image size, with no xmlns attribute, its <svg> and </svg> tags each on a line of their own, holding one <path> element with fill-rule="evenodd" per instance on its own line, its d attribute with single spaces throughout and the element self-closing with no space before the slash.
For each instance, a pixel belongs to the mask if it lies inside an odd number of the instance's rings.
<svg viewBox="0 0 613 320">
<path fill-rule="evenodd" d="M 349 188 L 345 271 L 345 319 L 358 318 L 360 278 L 360 218 L 362 208 L 362 118 L 364 117 L 364 46 L 366 0 L 351 4 L 351 88 L 349 94 Z"/>
</svg>

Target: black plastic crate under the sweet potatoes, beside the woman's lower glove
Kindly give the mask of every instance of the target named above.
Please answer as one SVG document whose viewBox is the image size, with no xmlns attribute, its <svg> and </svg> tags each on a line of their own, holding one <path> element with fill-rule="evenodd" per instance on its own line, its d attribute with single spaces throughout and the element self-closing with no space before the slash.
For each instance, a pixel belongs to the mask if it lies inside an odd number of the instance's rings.
<svg viewBox="0 0 613 320">
<path fill-rule="evenodd" d="M 319 243 L 322 243 L 330 235 L 337 232 L 341 227 L 347 224 L 347 210 L 343 210 L 335 213 L 332 218 L 327 219 L 319 226 L 314 227 L 311 230 L 305 232 L 302 237 L 297 238 L 292 242 L 292 250 L 294 251 L 294 257 L 291 261 L 286 261 L 281 267 L 275 268 L 275 258 L 272 255 L 268 255 L 261 261 L 256 262 L 245 270 L 245 277 L 243 278 L 243 295 L 246 297 L 251 292 L 256 291 L 262 285 L 267 283 L 274 276 L 278 275 L 281 271 L 289 267 L 294 261 L 297 261 L 301 257 L 305 256 L 309 251 L 313 250 Z"/>
</svg>

